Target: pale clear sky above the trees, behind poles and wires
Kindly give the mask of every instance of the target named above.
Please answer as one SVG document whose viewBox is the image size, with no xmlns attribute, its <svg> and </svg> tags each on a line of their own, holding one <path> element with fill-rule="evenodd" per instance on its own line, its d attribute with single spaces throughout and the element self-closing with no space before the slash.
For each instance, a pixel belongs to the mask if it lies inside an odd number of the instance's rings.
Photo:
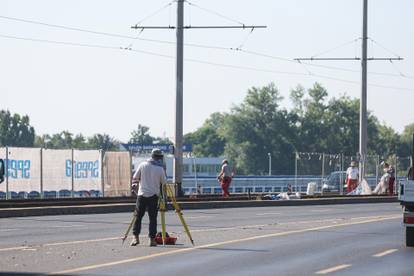
<svg viewBox="0 0 414 276">
<path fill-rule="evenodd" d="M 368 110 L 398 132 L 414 122 L 413 10 L 412 0 L 369 1 L 368 56 L 404 60 L 369 62 Z M 0 0 L 0 109 L 29 115 L 39 135 L 128 141 L 142 124 L 173 139 L 175 31 L 131 26 L 174 26 L 175 13 L 168 0 Z M 285 108 L 292 88 L 316 81 L 330 97 L 360 96 L 360 62 L 292 60 L 360 57 L 362 0 L 189 0 L 184 13 L 185 25 L 267 26 L 185 31 L 184 133 L 270 82 Z"/>
</svg>

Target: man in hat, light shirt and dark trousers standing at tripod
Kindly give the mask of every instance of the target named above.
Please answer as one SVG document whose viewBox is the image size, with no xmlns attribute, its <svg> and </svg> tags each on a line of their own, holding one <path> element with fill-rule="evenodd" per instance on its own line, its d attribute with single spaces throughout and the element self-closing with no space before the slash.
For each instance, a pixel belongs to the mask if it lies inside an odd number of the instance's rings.
<svg viewBox="0 0 414 276">
<path fill-rule="evenodd" d="M 146 210 L 149 217 L 149 245 L 157 246 L 155 236 L 157 234 L 158 197 L 160 194 L 160 185 L 165 183 L 163 153 L 159 149 L 153 149 L 151 159 L 141 163 L 132 178 L 132 188 L 136 189 L 138 186 L 138 193 L 135 214 L 136 220 L 132 230 L 134 237 L 131 246 L 139 244 L 141 222 Z"/>
</svg>

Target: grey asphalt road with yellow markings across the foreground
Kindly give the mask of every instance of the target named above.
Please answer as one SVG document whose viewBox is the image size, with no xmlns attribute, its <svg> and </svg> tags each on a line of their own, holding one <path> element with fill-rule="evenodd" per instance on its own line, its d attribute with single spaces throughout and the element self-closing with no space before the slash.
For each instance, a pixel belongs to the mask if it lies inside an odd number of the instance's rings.
<svg viewBox="0 0 414 276">
<path fill-rule="evenodd" d="M 131 214 L 0 219 L 0 275 L 414 275 L 398 203 L 185 211 L 193 247 L 122 245 Z M 159 227 L 160 228 L 160 227 Z M 12 272 L 16 274 L 12 274 Z M 28 273 L 28 274 L 25 274 Z"/>
</svg>

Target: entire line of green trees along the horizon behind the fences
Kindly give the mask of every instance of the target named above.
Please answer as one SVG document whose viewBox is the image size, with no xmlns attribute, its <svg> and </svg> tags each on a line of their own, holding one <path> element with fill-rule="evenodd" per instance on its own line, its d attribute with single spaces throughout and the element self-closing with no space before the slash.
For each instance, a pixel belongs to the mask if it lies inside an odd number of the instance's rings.
<svg viewBox="0 0 414 276">
<path fill-rule="evenodd" d="M 213 113 L 203 125 L 184 135 L 193 144 L 195 156 L 225 156 L 240 174 L 266 174 L 267 156 L 272 156 L 274 174 L 292 174 L 294 153 L 324 152 L 355 155 L 359 143 L 359 100 L 347 95 L 329 97 L 319 83 L 290 91 L 290 109 L 274 83 L 252 87 L 228 112 Z M 368 154 L 382 158 L 410 155 L 414 123 L 399 134 L 368 113 Z M 139 124 L 130 143 L 172 143 L 154 137 L 149 127 Z M 0 145 L 44 148 L 117 150 L 121 142 L 108 134 L 85 137 L 62 131 L 36 135 L 27 115 L 0 111 Z"/>
</svg>

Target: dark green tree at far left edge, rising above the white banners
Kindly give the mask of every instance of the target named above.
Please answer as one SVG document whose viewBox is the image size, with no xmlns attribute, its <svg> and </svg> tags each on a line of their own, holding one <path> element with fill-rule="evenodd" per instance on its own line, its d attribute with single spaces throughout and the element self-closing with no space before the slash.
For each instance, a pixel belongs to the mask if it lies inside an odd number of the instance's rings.
<svg viewBox="0 0 414 276">
<path fill-rule="evenodd" d="M 35 130 L 30 125 L 29 116 L 0 111 L 0 145 L 14 147 L 32 147 Z"/>
</svg>

